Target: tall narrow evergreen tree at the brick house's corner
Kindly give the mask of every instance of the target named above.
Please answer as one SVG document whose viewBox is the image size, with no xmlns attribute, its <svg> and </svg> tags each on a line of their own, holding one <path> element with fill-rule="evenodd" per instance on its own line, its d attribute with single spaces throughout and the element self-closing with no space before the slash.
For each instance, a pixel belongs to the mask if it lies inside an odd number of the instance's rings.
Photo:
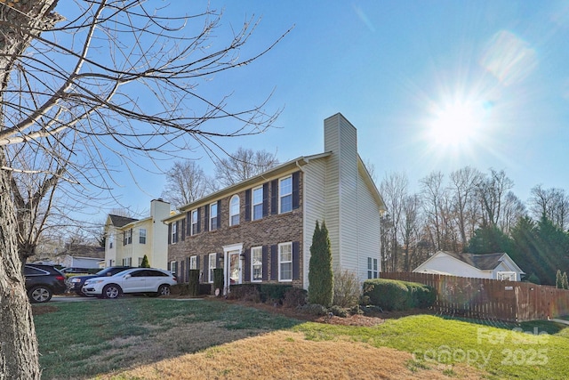
<svg viewBox="0 0 569 380">
<path fill-rule="evenodd" d="M 325 222 L 322 228 L 318 224 L 312 235 L 309 263 L 309 303 L 318 303 L 326 307 L 333 301 L 332 250 Z"/>
</svg>

